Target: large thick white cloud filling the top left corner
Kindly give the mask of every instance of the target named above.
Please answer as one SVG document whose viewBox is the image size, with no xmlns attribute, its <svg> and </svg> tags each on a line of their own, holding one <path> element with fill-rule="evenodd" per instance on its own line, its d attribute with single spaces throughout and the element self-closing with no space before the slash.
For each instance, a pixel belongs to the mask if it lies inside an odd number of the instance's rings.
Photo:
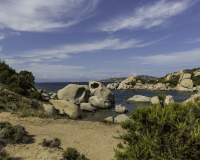
<svg viewBox="0 0 200 160">
<path fill-rule="evenodd" d="M 69 27 L 91 16 L 98 0 L 0 1 L 0 28 L 51 31 Z"/>
</svg>

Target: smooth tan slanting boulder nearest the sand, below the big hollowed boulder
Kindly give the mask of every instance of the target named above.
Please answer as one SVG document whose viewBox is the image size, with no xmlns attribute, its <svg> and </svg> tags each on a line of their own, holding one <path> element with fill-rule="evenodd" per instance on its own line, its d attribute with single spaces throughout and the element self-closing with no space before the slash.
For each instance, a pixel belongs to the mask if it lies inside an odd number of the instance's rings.
<svg viewBox="0 0 200 160">
<path fill-rule="evenodd" d="M 64 111 L 67 115 L 69 115 L 70 118 L 77 119 L 77 118 L 82 118 L 82 113 L 80 108 L 65 100 L 50 100 L 50 103 L 53 104 L 55 109 Z"/>
</svg>

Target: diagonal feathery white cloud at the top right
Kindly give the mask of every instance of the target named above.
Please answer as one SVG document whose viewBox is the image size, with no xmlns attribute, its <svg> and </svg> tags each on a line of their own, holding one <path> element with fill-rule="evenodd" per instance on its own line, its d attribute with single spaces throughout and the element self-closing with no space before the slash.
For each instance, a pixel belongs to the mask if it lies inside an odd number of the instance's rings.
<svg viewBox="0 0 200 160">
<path fill-rule="evenodd" d="M 121 16 L 101 25 L 103 31 L 117 31 L 121 29 L 150 28 L 163 25 L 170 17 L 186 11 L 194 1 L 176 0 L 169 2 L 160 0 L 152 5 L 137 8 L 128 16 Z"/>
</svg>

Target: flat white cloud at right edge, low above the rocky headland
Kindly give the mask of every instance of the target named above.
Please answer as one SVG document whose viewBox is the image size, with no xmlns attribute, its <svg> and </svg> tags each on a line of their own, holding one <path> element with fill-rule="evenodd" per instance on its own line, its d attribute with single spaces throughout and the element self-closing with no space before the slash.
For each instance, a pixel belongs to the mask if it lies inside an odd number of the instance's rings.
<svg viewBox="0 0 200 160">
<path fill-rule="evenodd" d="M 151 65 L 183 65 L 188 63 L 199 63 L 200 62 L 200 48 L 185 51 L 166 53 L 151 56 L 137 56 L 132 57 L 135 63 L 139 64 L 151 64 Z"/>
</svg>

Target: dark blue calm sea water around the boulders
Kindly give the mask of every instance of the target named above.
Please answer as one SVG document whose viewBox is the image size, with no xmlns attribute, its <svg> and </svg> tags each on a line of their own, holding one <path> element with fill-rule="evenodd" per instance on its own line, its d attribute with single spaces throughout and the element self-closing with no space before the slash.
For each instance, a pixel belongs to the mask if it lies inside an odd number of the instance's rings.
<svg viewBox="0 0 200 160">
<path fill-rule="evenodd" d="M 105 86 L 107 86 L 109 82 L 103 82 Z M 36 83 L 35 87 L 37 89 L 45 89 L 48 92 L 57 92 L 59 89 L 64 88 L 68 84 L 80 84 L 80 85 L 88 85 L 88 82 L 66 82 L 66 83 Z M 147 91 L 147 90 L 111 90 L 115 95 L 115 105 L 122 104 L 122 106 L 126 106 L 129 110 L 127 115 L 130 115 L 130 111 L 134 111 L 138 106 L 147 106 L 147 103 L 127 103 L 127 99 L 133 97 L 134 95 L 143 95 L 148 97 L 156 96 L 158 93 L 164 93 L 166 95 L 171 95 L 174 98 L 175 102 L 183 102 L 188 99 L 192 94 L 192 92 L 178 92 L 178 91 Z M 114 106 L 110 109 L 98 109 L 96 113 L 91 112 L 82 112 L 83 120 L 87 121 L 100 121 L 109 116 L 117 116 L 115 113 Z"/>
</svg>

